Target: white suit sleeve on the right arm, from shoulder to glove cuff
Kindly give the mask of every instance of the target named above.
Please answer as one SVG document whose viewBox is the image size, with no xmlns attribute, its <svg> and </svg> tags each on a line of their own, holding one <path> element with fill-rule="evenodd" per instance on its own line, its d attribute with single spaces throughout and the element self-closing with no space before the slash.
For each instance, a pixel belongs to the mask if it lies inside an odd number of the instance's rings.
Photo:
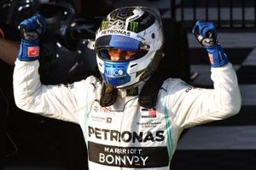
<svg viewBox="0 0 256 170">
<path fill-rule="evenodd" d="M 177 79 L 164 83 L 168 89 L 166 108 L 174 125 L 193 127 L 240 111 L 241 94 L 232 65 L 212 68 L 211 78 L 214 89 L 195 88 Z"/>
</svg>

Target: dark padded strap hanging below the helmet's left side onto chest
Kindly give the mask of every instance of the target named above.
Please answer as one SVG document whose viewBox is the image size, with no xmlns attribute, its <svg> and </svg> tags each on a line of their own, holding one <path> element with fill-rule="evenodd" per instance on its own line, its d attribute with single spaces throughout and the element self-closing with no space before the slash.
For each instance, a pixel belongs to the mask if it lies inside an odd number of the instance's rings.
<svg viewBox="0 0 256 170">
<path fill-rule="evenodd" d="M 117 88 L 113 88 L 106 83 L 103 83 L 102 95 L 100 99 L 100 105 L 102 107 L 108 107 L 113 105 L 117 97 Z"/>
</svg>

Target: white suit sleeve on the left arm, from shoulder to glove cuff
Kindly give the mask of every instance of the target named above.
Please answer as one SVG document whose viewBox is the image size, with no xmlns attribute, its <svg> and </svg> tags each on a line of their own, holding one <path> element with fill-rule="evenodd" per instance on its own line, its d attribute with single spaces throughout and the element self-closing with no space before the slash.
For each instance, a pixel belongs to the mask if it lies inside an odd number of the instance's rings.
<svg viewBox="0 0 256 170">
<path fill-rule="evenodd" d="M 24 111 L 42 116 L 79 122 L 79 111 L 88 105 L 95 95 L 91 82 L 95 77 L 68 85 L 43 85 L 38 74 L 39 62 L 15 62 L 14 94 L 15 104 Z"/>
</svg>

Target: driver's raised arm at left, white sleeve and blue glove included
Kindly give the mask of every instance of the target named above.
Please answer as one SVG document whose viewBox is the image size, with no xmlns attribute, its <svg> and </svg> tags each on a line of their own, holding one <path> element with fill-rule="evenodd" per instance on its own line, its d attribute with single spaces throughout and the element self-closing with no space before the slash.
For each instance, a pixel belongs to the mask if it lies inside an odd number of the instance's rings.
<svg viewBox="0 0 256 170">
<path fill-rule="evenodd" d="M 38 74 L 38 43 L 44 32 L 43 16 L 35 15 L 22 21 L 20 32 L 20 53 L 15 61 L 14 71 L 15 104 L 24 111 L 63 121 L 78 122 L 78 112 L 86 105 L 82 102 L 86 97 L 86 89 L 93 86 L 86 86 L 90 84 L 86 81 L 74 82 L 67 86 L 42 84 Z M 88 96 L 92 97 L 91 94 Z"/>
</svg>

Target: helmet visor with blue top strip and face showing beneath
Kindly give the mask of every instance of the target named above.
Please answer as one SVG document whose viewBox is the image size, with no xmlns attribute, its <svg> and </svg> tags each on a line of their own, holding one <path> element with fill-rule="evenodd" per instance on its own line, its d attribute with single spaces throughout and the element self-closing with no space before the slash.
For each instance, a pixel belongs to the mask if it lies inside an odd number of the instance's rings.
<svg viewBox="0 0 256 170">
<path fill-rule="evenodd" d="M 102 59 L 124 61 L 138 59 L 148 53 L 149 46 L 137 39 L 118 35 L 99 37 L 96 50 Z"/>
</svg>

